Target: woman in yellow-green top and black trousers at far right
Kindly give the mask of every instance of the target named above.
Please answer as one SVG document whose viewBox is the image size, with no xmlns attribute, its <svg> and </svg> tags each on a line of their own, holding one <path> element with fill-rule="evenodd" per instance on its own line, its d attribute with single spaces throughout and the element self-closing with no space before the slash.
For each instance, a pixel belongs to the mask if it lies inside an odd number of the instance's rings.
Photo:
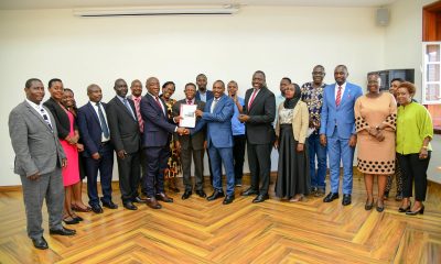
<svg viewBox="0 0 441 264">
<path fill-rule="evenodd" d="M 396 151 L 404 175 L 404 199 L 399 212 L 415 216 L 424 212 L 427 191 L 427 168 L 429 166 L 433 138 L 433 124 L 429 111 L 412 101 L 416 87 L 411 82 L 402 82 L 397 90 L 400 107 L 397 114 Z M 410 197 L 415 180 L 415 204 L 411 208 Z"/>
</svg>

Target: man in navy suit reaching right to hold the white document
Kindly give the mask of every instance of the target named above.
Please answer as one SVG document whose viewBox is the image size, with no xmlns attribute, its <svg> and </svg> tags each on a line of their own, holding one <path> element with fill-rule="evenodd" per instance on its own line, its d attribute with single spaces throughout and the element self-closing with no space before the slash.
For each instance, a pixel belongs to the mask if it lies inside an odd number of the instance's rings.
<svg viewBox="0 0 441 264">
<path fill-rule="evenodd" d="M 141 114 L 144 121 L 142 147 L 146 153 L 147 169 L 144 185 L 147 189 L 147 205 L 152 209 L 162 208 L 157 199 L 173 202 L 164 193 L 164 169 L 169 158 L 169 135 L 178 132 L 187 132 L 184 128 L 178 128 L 168 119 L 165 102 L 159 98 L 159 80 L 150 77 L 146 81 L 147 95 L 141 100 Z M 179 121 L 179 118 L 175 119 Z"/>
</svg>

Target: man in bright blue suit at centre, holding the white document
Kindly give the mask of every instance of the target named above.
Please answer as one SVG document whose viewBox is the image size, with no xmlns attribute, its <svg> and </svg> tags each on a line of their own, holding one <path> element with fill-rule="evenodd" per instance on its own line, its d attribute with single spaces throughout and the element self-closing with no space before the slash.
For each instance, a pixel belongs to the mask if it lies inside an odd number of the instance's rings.
<svg viewBox="0 0 441 264">
<path fill-rule="evenodd" d="M 234 114 L 234 101 L 225 94 L 225 84 L 222 80 L 216 80 L 213 84 L 214 98 L 205 105 L 204 111 L 196 110 L 196 117 L 201 117 L 201 121 L 196 124 L 194 132 L 201 130 L 207 124 L 206 141 L 208 145 L 209 157 L 212 160 L 213 170 L 213 195 L 207 197 L 207 200 L 215 200 L 224 197 L 222 188 L 222 163 L 227 175 L 227 196 L 224 199 L 224 205 L 232 204 L 235 186 L 234 164 L 233 164 L 233 132 L 232 117 Z"/>
</svg>

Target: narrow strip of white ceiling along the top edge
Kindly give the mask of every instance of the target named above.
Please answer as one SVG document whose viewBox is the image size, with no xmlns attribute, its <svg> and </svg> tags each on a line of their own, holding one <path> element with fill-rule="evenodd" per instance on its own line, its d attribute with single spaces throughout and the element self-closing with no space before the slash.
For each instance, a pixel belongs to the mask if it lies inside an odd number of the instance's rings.
<svg viewBox="0 0 441 264">
<path fill-rule="evenodd" d="M 300 6 L 300 7 L 381 7 L 399 0 L 0 0 L 0 10 L 73 9 L 92 7 L 144 7 L 191 4 Z"/>
</svg>

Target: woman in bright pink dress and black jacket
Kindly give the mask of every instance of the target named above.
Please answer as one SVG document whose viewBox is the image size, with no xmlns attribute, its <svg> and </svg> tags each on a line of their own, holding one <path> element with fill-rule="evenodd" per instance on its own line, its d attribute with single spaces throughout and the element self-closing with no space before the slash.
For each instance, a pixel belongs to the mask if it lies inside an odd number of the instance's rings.
<svg viewBox="0 0 441 264">
<path fill-rule="evenodd" d="M 63 168 L 63 184 L 65 187 L 63 221 L 67 224 L 78 223 L 83 219 L 72 210 L 72 186 L 79 182 L 78 169 L 78 130 L 75 128 L 74 116 L 62 105 L 64 95 L 61 79 L 49 81 L 51 98 L 44 106 L 52 112 L 58 131 L 58 139 L 67 157 L 67 166 Z"/>
</svg>

